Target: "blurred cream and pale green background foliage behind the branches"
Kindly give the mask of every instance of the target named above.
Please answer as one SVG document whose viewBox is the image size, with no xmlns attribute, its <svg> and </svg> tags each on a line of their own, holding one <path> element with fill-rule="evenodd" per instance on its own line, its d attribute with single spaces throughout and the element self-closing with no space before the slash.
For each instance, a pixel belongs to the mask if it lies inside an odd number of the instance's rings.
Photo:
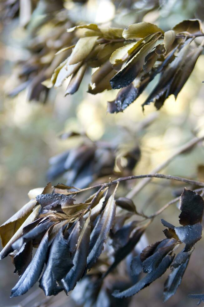
<svg viewBox="0 0 204 307">
<path fill-rule="evenodd" d="M 1 6 L 5 4 L 4 2 L 9 3 L 9 1 L 3 1 Z M 27 2 L 29 3 L 29 1 L 10 1 L 10 3 L 13 3 L 12 7 L 18 4 L 20 9 L 23 7 L 22 3 Z M 45 45 L 47 46 L 50 43 L 52 46 L 54 41 L 52 34 L 54 32 L 52 32 L 53 27 L 49 18 L 43 27 L 38 27 L 40 21 L 46 17 L 43 12 L 48 2 L 33 1 L 35 3 L 33 13 L 28 14 L 27 19 L 25 12 L 18 14 L 18 5 L 16 5 L 16 11 L 13 9 L 13 15 L 11 7 L 8 10 L 4 7 L 1 13 L 1 223 L 28 201 L 27 193 L 30 189 L 46 185 L 49 159 L 77 144 L 76 138 L 58 138 L 63 132 L 86 133 L 92 141 L 109 142 L 119 148 L 139 146 L 141 157 L 133 170 L 134 174 L 150 173 L 180 145 L 186 143 L 195 135 L 200 136 L 204 133 L 203 55 L 199 57 L 191 77 L 176 102 L 170 96 L 159 112 L 155 112 L 154 106 L 151 105 L 145 109 L 144 114 L 142 113 L 140 105 L 153 86 L 150 84 L 137 101 L 123 113 L 107 114 L 106 101 L 114 99 L 115 90 L 92 96 L 86 93 L 86 85 L 89 82 L 86 76 L 79 91 L 74 96 L 64 97 L 66 84 L 63 84 L 61 88 L 49 90 L 46 93 L 48 94 L 46 104 L 42 103 L 43 98 L 39 99 L 41 103 L 36 103 L 32 99 L 31 102 L 28 102 L 28 89 L 19 92 L 14 97 L 8 96 L 8 93 L 20 84 L 18 79 L 19 63 L 33 59 L 34 55 L 38 56 L 39 51 L 37 49 L 27 48 L 29 44 L 31 46 L 31 42 L 34 42 L 33 39 L 36 39 L 36 34 L 41 43 L 46 42 Z M 64 29 L 60 35 L 64 34 L 63 39 L 65 41 L 66 35 L 69 35 L 65 30 L 79 21 L 120 25 L 122 27 L 135 22 L 148 21 L 156 22 L 162 29 L 168 30 L 186 18 L 204 19 L 202 0 L 51 1 L 54 8 L 56 3 L 58 3 L 61 13 L 62 11 L 67 13 L 66 18 L 62 20 L 60 25 Z M 52 10 L 52 5 L 49 7 L 50 10 Z M 64 8 L 66 8 L 66 11 L 64 11 Z M 49 39 L 48 35 L 50 36 Z M 62 36 L 60 36 L 59 44 L 55 45 L 56 49 L 61 48 L 61 39 Z M 48 49 L 52 51 L 52 48 L 49 47 Z M 49 57 L 47 55 L 47 59 L 44 57 L 44 64 L 46 64 L 46 61 L 53 60 L 53 58 L 54 52 L 51 52 Z M 149 125 L 143 127 L 145 121 L 149 122 Z M 163 173 L 204 180 L 203 165 L 204 148 L 199 144 L 193 150 L 176 157 L 164 169 Z M 59 181 L 65 183 L 63 177 L 54 180 L 52 183 L 56 184 Z M 150 209 L 148 210 L 152 212 L 171 200 L 180 188 L 181 185 L 174 182 L 154 180 L 135 197 L 134 201 L 139 209 L 143 206 L 149 206 Z M 178 212 L 173 205 L 167 211 L 164 211 L 162 217 L 176 224 L 178 223 Z M 155 237 L 163 238 L 163 227 L 160 223 L 158 225 L 157 223 L 158 220 L 154 221 L 150 229 L 147 230 L 150 243 L 155 242 Z M 154 229 L 154 232 L 152 229 Z M 187 299 L 187 294 L 203 291 L 202 259 L 204 250 L 202 244 L 203 240 L 197 244 L 196 252 L 192 255 L 182 284 L 176 295 L 166 303 L 166 306 L 195 305 L 194 301 Z M 0 262 L 0 306 L 18 305 L 22 301 L 22 298 L 9 299 L 10 288 L 15 284 L 17 278 L 17 276 L 13 276 L 13 266 L 10 264 L 10 259 Z M 163 306 L 163 282 L 164 278 L 161 278 L 148 289 L 141 291 L 136 297 L 133 297 L 130 306 Z M 35 290 L 33 289 L 33 291 Z M 26 294 L 25 297 L 27 295 L 30 295 L 30 293 Z M 36 304 L 36 306 L 38 301 L 44 299 L 41 292 L 40 294 L 33 292 L 32 295 L 32 304 Z M 26 305 L 26 302 L 24 304 Z M 49 304 L 49 306 L 75 306 L 70 297 L 67 298 L 64 293 L 59 294 L 54 299 L 49 299 L 46 304 Z M 28 305 L 31 306 L 31 303 Z M 43 303 L 42 306 L 44 306 Z"/>
</svg>

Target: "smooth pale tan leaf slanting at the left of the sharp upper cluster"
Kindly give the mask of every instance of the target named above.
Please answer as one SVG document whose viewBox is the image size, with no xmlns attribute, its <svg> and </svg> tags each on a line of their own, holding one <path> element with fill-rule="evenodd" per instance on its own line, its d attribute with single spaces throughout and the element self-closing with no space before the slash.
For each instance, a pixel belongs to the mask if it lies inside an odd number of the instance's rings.
<svg viewBox="0 0 204 307">
<path fill-rule="evenodd" d="M 80 38 L 69 57 L 68 64 L 73 65 L 84 60 L 94 48 L 97 39 L 98 36 Z"/>
</svg>

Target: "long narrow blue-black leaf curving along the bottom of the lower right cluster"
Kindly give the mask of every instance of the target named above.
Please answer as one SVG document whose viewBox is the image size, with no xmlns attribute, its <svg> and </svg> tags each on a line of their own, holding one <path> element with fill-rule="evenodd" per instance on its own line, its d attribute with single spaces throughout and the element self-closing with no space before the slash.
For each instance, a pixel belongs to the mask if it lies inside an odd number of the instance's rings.
<svg viewBox="0 0 204 307">
<path fill-rule="evenodd" d="M 157 278 L 161 277 L 166 272 L 167 268 L 170 266 L 172 260 L 172 256 L 165 256 L 155 271 L 148 273 L 144 278 L 142 278 L 139 282 L 137 282 L 129 289 L 126 289 L 122 292 L 120 292 L 119 290 L 115 290 L 112 295 L 120 299 L 124 296 L 129 297 L 138 293 L 140 290 L 149 286 Z"/>
</svg>

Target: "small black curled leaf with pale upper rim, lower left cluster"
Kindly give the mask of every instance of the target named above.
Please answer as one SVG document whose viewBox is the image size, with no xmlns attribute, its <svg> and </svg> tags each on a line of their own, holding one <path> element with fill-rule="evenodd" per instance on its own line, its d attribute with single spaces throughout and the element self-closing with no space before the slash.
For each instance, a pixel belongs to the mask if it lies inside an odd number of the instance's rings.
<svg viewBox="0 0 204 307">
<path fill-rule="evenodd" d="M 14 273 L 18 273 L 18 275 L 22 275 L 29 263 L 32 260 L 32 241 L 25 242 L 19 252 L 15 254 L 13 258 L 13 264 L 15 265 Z"/>
</svg>

